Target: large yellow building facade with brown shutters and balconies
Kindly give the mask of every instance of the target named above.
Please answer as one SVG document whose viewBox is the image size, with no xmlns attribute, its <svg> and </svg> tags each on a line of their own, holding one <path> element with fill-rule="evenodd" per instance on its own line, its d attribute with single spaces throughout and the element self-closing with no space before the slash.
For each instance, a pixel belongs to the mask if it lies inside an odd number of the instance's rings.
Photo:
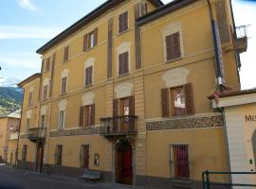
<svg viewBox="0 0 256 189">
<path fill-rule="evenodd" d="M 228 0 L 102 4 L 38 49 L 41 74 L 20 83 L 19 166 L 158 188 L 229 170 L 207 97 L 240 85 L 234 35 Z"/>
</svg>

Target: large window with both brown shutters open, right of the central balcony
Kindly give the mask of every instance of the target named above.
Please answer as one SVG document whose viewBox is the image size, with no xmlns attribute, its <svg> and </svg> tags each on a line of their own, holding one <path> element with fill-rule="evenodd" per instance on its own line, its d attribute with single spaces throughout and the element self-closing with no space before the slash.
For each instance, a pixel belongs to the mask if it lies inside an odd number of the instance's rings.
<svg viewBox="0 0 256 189">
<path fill-rule="evenodd" d="M 161 90 L 162 116 L 193 114 L 192 84 Z M 169 100 L 170 99 L 170 100 Z"/>
</svg>

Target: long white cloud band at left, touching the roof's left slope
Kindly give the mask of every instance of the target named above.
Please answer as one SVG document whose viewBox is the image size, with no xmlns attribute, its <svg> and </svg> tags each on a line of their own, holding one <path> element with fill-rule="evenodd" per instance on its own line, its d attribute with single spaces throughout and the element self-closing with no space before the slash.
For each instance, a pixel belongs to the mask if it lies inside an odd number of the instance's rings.
<svg viewBox="0 0 256 189">
<path fill-rule="evenodd" d="M 0 26 L 0 40 L 3 39 L 51 39 L 62 29 L 37 26 Z"/>
</svg>

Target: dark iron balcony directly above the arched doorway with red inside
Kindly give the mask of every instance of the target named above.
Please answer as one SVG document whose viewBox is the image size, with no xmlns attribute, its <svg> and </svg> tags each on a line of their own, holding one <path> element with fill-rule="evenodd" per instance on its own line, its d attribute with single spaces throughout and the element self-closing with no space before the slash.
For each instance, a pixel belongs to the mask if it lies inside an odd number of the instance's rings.
<svg viewBox="0 0 256 189">
<path fill-rule="evenodd" d="M 123 115 L 101 118 L 101 135 L 126 136 L 137 134 L 137 116 Z"/>
</svg>

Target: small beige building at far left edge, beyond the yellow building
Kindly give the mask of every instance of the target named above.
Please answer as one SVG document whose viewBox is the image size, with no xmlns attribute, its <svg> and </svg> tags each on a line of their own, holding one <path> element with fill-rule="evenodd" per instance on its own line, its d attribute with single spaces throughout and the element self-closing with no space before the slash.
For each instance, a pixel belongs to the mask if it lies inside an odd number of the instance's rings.
<svg viewBox="0 0 256 189">
<path fill-rule="evenodd" d="M 21 110 L 0 116 L 0 162 L 14 163 Z"/>
</svg>

